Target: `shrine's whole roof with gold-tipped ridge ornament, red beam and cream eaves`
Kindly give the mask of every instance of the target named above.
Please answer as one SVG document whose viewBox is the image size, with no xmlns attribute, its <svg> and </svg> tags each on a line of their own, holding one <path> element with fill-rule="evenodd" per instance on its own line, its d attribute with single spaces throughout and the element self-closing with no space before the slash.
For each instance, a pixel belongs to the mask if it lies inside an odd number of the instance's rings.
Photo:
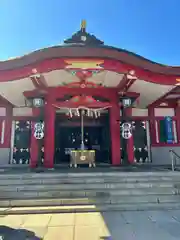
<svg viewBox="0 0 180 240">
<path fill-rule="evenodd" d="M 81 30 L 64 43 L 1 61 L 1 97 L 21 107 L 25 104 L 26 91 L 75 87 L 72 85 L 85 81 L 88 87 L 139 93 L 138 107 L 142 108 L 161 97 L 165 102 L 179 98 L 180 67 L 155 63 L 124 49 L 104 45 L 102 40 L 86 32 L 85 21 Z"/>
</svg>

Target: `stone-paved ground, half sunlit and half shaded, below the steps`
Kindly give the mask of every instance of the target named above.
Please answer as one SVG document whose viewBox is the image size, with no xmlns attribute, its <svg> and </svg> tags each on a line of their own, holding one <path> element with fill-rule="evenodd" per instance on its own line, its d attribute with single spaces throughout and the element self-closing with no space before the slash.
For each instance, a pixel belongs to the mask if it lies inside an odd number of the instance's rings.
<svg viewBox="0 0 180 240">
<path fill-rule="evenodd" d="M 37 240 L 179 240 L 180 210 L 0 216 L 0 240 L 2 235 L 5 240 L 25 240 L 25 235 Z"/>
</svg>

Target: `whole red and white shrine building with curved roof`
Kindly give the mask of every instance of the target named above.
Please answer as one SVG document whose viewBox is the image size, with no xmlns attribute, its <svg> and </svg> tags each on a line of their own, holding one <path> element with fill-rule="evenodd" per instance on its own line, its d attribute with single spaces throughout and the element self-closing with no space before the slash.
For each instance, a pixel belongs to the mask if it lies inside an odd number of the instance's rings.
<svg viewBox="0 0 180 240">
<path fill-rule="evenodd" d="M 180 67 L 105 45 L 86 22 L 64 44 L 0 62 L 0 166 L 171 164 L 180 154 Z M 83 147 L 83 149 L 82 149 Z"/>
</svg>

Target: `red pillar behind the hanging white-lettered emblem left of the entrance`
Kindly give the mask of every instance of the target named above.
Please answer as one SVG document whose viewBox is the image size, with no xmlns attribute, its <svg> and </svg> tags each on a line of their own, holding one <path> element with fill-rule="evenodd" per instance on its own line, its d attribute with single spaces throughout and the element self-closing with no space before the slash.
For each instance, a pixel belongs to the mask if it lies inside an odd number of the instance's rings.
<svg viewBox="0 0 180 240">
<path fill-rule="evenodd" d="M 39 109 L 38 108 L 34 108 L 33 109 L 33 117 L 37 117 L 39 114 Z M 31 145 L 30 145 L 30 162 L 29 162 L 29 166 L 30 168 L 35 168 L 38 162 L 38 141 L 35 137 L 34 137 L 34 125 L 35 125 L 35 121 L 32 121 L 32 125 L 31 125 Z"/>
</svg>

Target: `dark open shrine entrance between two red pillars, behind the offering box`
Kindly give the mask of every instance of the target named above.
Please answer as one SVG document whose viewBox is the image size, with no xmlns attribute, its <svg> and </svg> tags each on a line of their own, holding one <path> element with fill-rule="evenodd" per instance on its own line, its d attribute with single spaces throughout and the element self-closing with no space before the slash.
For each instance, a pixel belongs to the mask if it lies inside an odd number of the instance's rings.
<svg viewBox="0 0 180 240">
<path fill-rule="evenodd" d="M 95 151 L 96 164 L 111 162 L 108 111 L 101 117 L 84 118 L 83 142 L 85 150 Z M 56 115 L 55 164 L 69 164 L 72 150 L 82 150 L 82 125 L 80 118 Z"/>
</svg>

